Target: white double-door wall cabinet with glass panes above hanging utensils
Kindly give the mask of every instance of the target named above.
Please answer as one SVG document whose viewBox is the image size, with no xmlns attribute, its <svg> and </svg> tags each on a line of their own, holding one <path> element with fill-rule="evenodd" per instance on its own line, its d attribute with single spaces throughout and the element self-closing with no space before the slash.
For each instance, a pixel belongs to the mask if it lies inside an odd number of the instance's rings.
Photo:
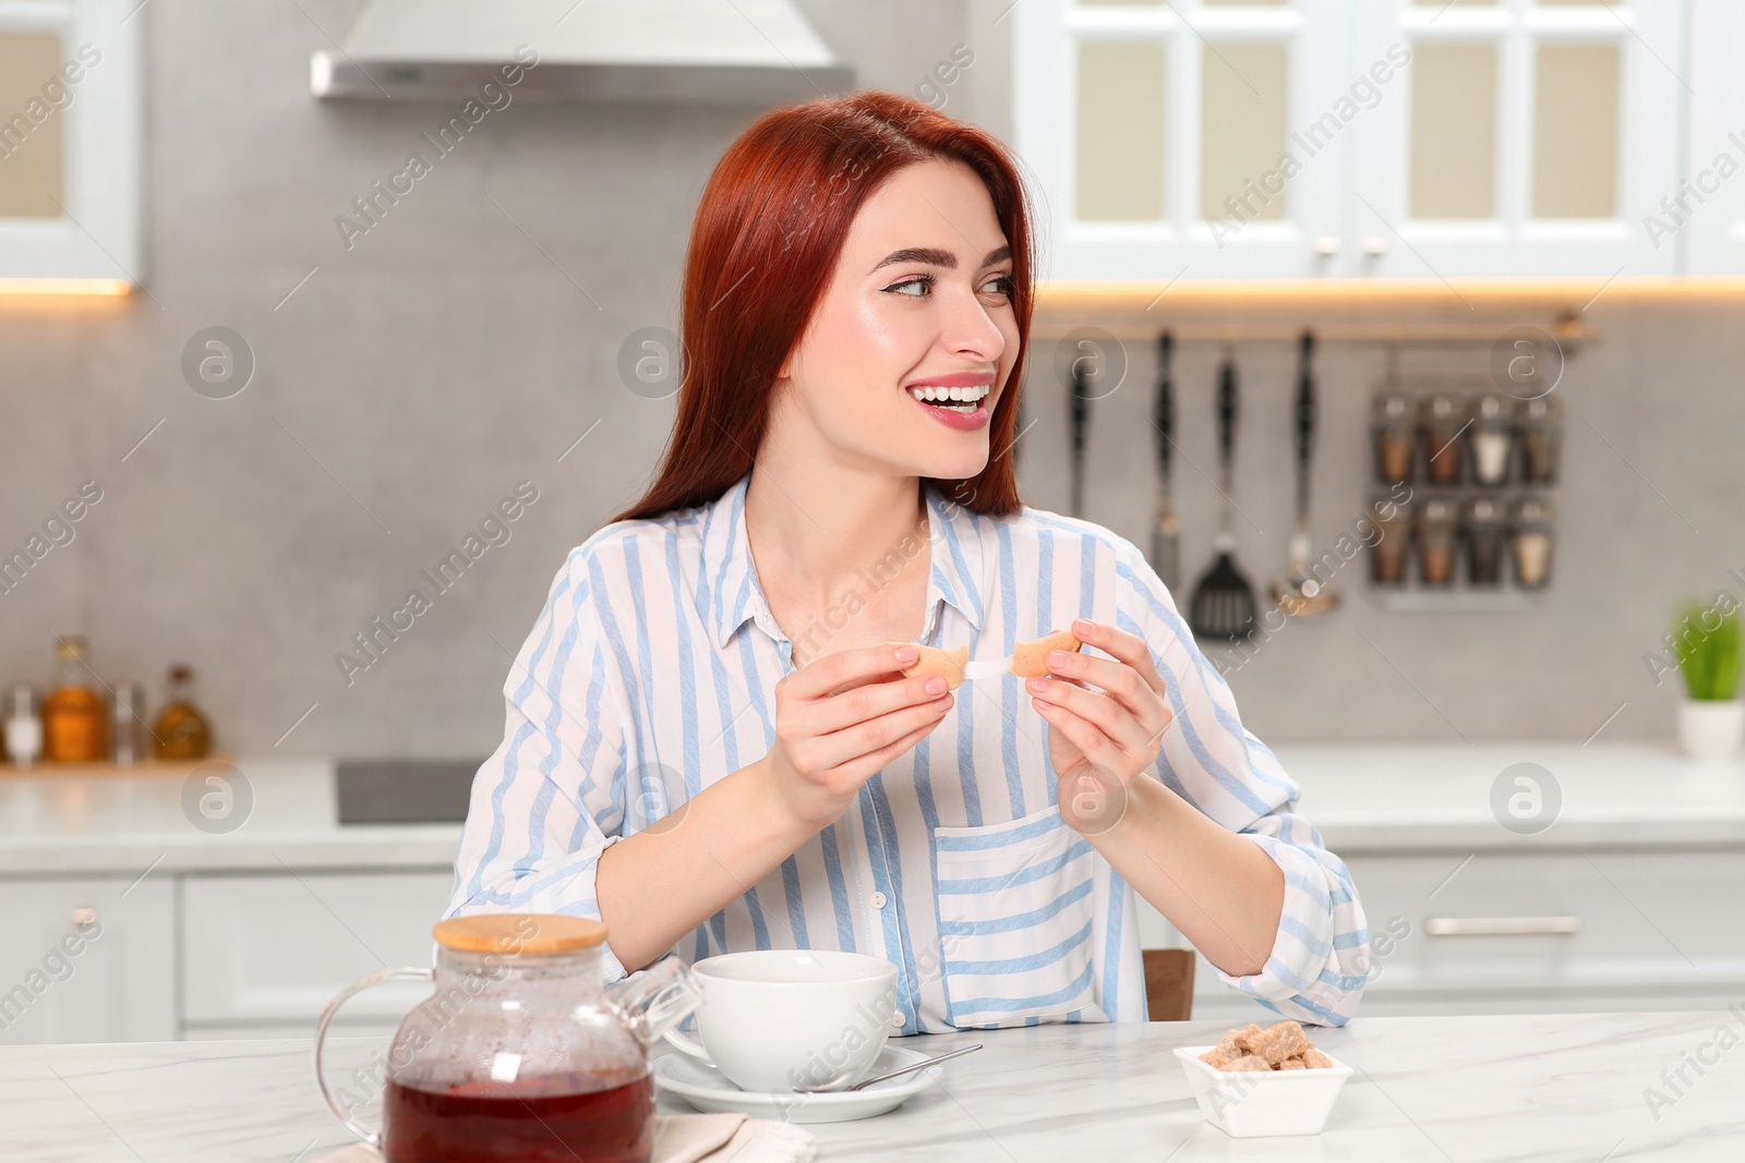
<svg viewBox="0 0 1745 1163">
<path fill-rule="evenodd" d="M 1687 3 L 1698 63 L 1736 73 L 1731 0 L 1026 0 L 1014 122 L 1044 274 L 1679 274 L 1647 218 L 1722 89 L 1680 75 Z"/>
</svg>

